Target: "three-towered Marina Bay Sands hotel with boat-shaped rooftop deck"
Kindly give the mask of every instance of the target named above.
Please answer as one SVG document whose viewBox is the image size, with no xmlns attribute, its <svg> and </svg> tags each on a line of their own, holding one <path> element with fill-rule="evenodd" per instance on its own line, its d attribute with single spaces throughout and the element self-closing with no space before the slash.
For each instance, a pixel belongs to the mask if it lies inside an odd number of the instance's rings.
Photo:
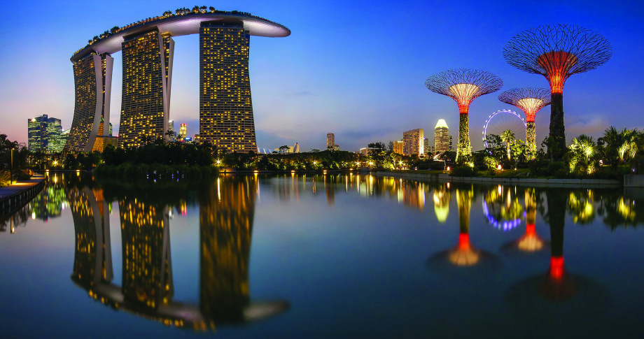
<svg viewBox="0 0 644 339">
<path fill-rule="evenodd" d="M 123 92 L 118 145 L 138 147 L 168 130 L 173 36 L 200 36 L 200 142 L 228 152 L 256 152 L 248 75 L 250 36 L 283 37 L 290 30 L 262 17 L 204 7 L 166 12 L 114 27 L 71 57 L 75 104 L 65 152 L 103 150 L 111 142 L 113 57 L 123 51 Z"/>
</svg>

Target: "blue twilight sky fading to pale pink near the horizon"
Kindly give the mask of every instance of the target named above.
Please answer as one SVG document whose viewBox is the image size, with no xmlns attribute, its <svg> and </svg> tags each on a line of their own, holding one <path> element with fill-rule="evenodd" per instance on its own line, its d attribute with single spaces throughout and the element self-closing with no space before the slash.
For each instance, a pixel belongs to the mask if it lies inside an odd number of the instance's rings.
<svg viewBox="0 0 644 339">
<path fill-rule="evenodd" d="M 87 39 L 192 7 L 186 1 L 25 1 L 0 13 L 0 133 L 27 141 L 27 119 L 48 114 L 71 127 L 71 54 Z M 644 1 L 216 1 L 199 3 L 241 10 L 285 25 L 287 38 L 251 38 L 251 89 L 258 147 L 300 143 L 324 148 L 335 133 L 342 150 L 399 140 L 402 132 L 433 128 L 444 118 L 458 133 L 458 108 L 423 85 L 449 68 L 479 68 L 513 87 L 547 87 L 545 78 L 505 63 L 503 46 L 541 24 L 578 24 L 602 34 L 612 59 L 573 75 L 564 88 L 568 139 L 598 136 L 610 125 L 644 127 Z M 199 129 L 198 37 L 175 38 L 170 119 Z M 118 129 L 121 53 L 115 58 L 111 122 Z M 500 92 L 470 107 L 475 150 L 488 115 L 512 108 Z M 547 134 L 549 108 L 537 115 L 537 138 Z"/>
</svg>

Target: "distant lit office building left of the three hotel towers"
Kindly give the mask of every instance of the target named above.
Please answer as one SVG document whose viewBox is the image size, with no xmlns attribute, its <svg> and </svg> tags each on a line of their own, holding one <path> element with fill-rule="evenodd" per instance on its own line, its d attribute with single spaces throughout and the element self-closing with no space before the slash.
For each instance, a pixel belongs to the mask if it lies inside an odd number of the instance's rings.
<svg viewBox="0 0 644 339">
<path fill-rule="evenodd" d="M 46 114 L 27 120 L 27 133 L 27 147 L 31 152 L 62 152 L 65 145 L 60 120 Z"/>
</svg>

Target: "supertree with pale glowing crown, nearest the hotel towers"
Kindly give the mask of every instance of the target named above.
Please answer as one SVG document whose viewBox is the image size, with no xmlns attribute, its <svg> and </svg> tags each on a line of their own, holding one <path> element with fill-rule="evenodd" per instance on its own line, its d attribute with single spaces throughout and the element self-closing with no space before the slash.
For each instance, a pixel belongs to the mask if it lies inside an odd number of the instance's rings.
<svg viewBox="0 0 644 339">
<path fill-rule="evenodd" d="M 456 160 L 461 157 L 469 158 L 472 154 L 468 120 L 470 103 L 479 96 L 498 91 L 503 86 L 503 80 L 486 71 L 456 68 L 430 76 L 425 80 L 425 86 L 430 91 L 447 95 L 458 103 L 461 114 L 458 123 Z"/>
</svg>

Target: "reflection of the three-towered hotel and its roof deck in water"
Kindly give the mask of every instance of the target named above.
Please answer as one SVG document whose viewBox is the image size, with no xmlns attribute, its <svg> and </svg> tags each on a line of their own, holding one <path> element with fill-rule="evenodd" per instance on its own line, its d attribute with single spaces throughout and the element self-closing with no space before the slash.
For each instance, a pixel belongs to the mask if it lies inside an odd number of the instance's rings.
<svg viewBox="0 0 644 339">
<path fill-rule="evenodd" d="M 185 201 L 171 201 L 176 200 L 172 198 L 176 190 L 170 187 L 165 194 L 144 196 L 137 194 L 144 192 L 140 187 L 118 187 L 123 242 L 123 281 L 118 287 L 111 281 L 109 203 L 104 201 L 104 192 L 70 187 L 76 233 L 71 279 L 91 298 L 112 308 L 195 331 L 287 310 L 286 301 L 253 303 L 249 296 L 256 186 L 252 177 L 222 177 L 200 191 L 199 305 L 173 300 L 169 205 L 182 211 L 185 207 Z"/>
</svg>

